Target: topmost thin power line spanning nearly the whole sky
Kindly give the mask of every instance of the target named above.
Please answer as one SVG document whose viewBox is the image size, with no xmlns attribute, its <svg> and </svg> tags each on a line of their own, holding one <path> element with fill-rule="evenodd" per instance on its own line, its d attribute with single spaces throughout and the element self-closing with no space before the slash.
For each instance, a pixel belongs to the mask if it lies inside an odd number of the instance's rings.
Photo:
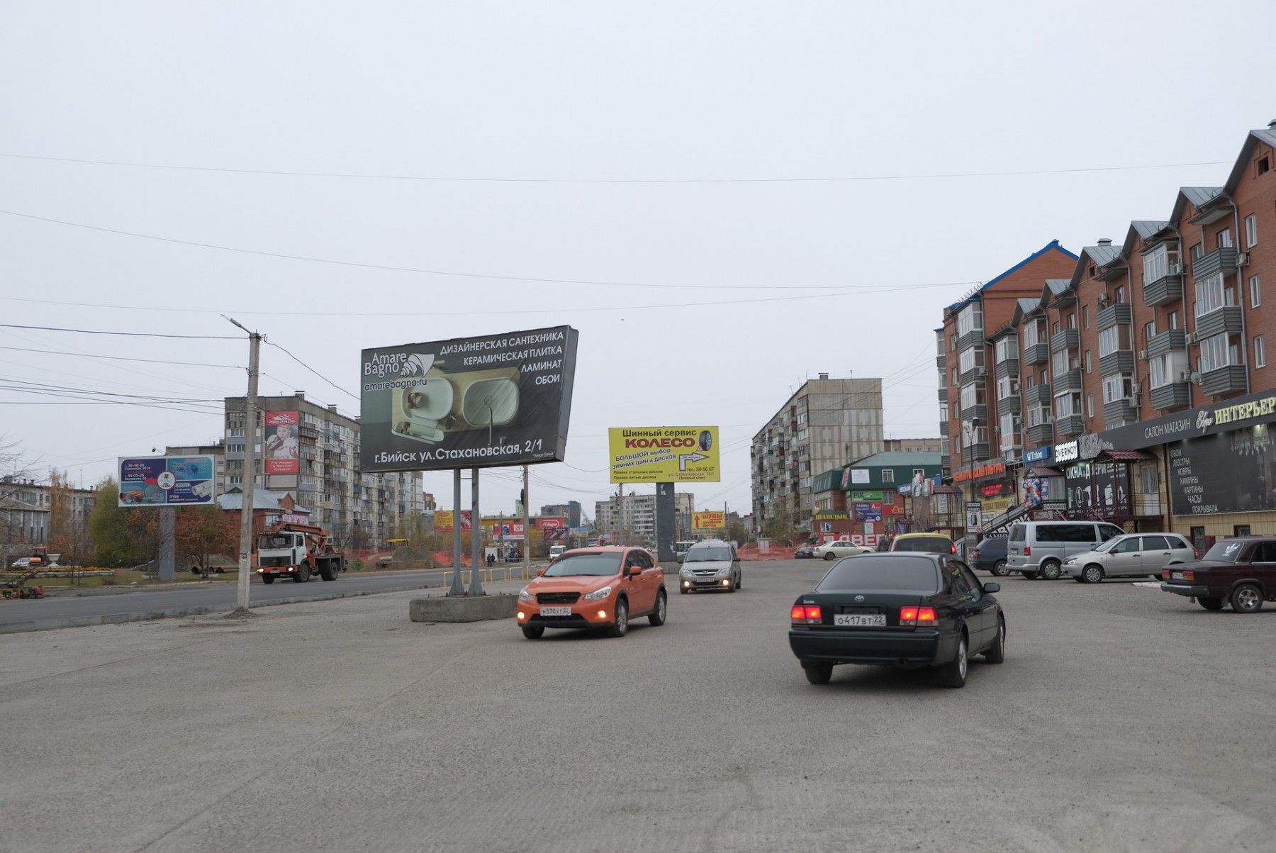
<svg viewBox="0 0 1276 853">
<path fill-rule="evenodd" d="M 119 160 L 83 160 L 75 157 L 45 157 L 40 155 L 0 153 L 14 160 L 41 160 L 59 163 L 84 163 L 91 166 L 124 166 L 129 169 L 166 169 L 175 171 L 221 172 L 232 175 L 271 175 L 277 177 L 343 177 L 360 180 L 411 180 L 458 184 L 835 184 L 856 181 L 937 180 L 952 177 L 1008 177 L 1021 175 L 1074 175 L 1078 172 L 1136 171 L 1147 169 L 1187 169 L 1192 166 L 1226 166 L 1228 161 L 1196 163 L 1148 163 L 1141 166 L 1079 166 L 1076 169 L 1025 169 L 1017 171 L 988 172 L 930 172 L 916 175 L 842 175 L 832 177 L 441 177 L 434 175 L 392 175 L 366 172 L 311 172 L 274 169 L 231 169 L 227 166 L 181 166 L 174 163 L 142 163 Z"/>
</svg>

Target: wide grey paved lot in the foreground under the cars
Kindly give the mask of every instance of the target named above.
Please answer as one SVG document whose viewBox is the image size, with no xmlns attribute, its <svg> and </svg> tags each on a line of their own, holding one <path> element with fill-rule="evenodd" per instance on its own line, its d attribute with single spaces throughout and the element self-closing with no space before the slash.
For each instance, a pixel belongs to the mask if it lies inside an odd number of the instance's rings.
<svg viewBox="0 0 1276 853">
<path fill-rule="evenodd" d="M 410 593 L 5 637 L 0 849 L 1276 849 L 1276 609 L 1005 578 L 963 690 L 817 687 L 786 627 L 824 568 L 618 640 Z"/>
</svg>

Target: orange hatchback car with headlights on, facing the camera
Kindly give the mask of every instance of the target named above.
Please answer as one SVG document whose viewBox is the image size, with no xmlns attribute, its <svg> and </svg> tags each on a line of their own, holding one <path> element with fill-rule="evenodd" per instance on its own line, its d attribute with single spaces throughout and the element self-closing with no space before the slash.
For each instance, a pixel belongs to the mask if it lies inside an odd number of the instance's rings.
<svg viewBox="0 0 1276 853">
<path fill-rule="evenodd" d="M 545 628 L 606 628 L 623 637 L 639 617 L 665 624 L 665 570 L 642 548 L 577 548 L 537 575 L 518 593 L 518 627 L 528 640 Z"/>
</svg>

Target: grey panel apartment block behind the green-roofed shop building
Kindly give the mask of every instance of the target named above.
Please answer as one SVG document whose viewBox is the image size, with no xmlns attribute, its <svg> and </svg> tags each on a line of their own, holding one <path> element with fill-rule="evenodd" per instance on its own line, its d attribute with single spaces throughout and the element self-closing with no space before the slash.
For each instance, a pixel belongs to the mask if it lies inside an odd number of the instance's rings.
<svg viewBox="0 0 1276 853">
<path fill-rule="evenodd" d="M 806 527 L 814 516 L 815 474 L 882 449 L 882 381 L 829 379 L 799 388 L 753 437 L 753 518 Z M 809 527 L 806 527 L 809 529 Z"/>
</svg>

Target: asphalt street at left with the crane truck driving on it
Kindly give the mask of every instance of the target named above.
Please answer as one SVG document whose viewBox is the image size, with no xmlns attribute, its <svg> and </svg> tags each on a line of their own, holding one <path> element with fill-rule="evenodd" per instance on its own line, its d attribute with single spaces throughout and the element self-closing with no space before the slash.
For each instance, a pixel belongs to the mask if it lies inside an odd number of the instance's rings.
<svg viewBox="0 0 1276 853">
<path fill-rule="evenodd" d="M 309 599 L 348 593 L 376 593 L 425 585 L 439 586 L 441 572 L 346 572 L 336 581 L 319 577 L 306 584 L 281 580 L 267 586 L 254 582 L 250 601 L 254 607 L 263 601 L 283 599 Z M 197 609 L 203 612 L 231 610 L 237 596 L 236 585 L 228 581 L 182 584 L 174 589 L 143 589 L 131 593 L 50 595 L 45 599 L 19 599 L 0 601 L 0 633 L 17 630 L 46 630 L 64 627 L 77 621 L 134 621 L 153 618 L 166 612 Z"/>
</svg>

